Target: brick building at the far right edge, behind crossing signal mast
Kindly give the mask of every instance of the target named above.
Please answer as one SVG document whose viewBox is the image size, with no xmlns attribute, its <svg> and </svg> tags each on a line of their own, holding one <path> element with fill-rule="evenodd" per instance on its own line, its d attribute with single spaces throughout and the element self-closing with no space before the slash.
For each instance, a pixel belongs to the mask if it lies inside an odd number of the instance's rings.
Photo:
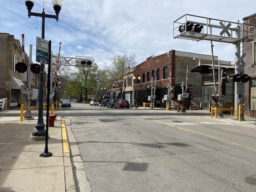
<svg viewBox="0 0 256 192">
<path fill-rule="evenodd" d="M 256 14 L 243 18 L 243 34 L 245 38 L 252 41 L 244 42 L 244 74 L 248 74 L 251 79 L 244 83 L 244 116 L 256 117 Z"/>
</svg>

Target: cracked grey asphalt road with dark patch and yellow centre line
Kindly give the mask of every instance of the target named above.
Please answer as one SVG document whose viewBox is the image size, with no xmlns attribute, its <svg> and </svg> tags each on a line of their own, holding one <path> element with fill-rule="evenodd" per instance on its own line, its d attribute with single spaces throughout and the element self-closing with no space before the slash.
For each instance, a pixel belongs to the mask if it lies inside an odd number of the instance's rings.
<svg viewBox="0 0 256 192">
<path fill-rule="evenodd" d="M 255 127 L 142 107 L 72 103 L 60 114 L 92 192 L 256 191 Z"/>
</svg>

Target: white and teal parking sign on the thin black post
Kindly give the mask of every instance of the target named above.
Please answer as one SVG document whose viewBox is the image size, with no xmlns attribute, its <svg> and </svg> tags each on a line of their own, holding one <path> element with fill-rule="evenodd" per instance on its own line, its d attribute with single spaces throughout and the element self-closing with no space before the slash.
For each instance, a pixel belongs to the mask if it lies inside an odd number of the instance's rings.
<svg viewBox="0 0 256 192">
<path fill-rule="evenodd" d="M 49 42 L 43 38 L 36 37 L 36 61 L 48 64 Z"/>
</svg>

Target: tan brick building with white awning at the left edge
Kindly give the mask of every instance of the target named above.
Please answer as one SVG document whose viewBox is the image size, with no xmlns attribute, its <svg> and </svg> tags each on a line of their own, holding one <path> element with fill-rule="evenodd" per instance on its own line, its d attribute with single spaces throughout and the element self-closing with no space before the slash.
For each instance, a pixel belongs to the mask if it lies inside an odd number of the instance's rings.
<svg viewBox="0 0 256 192">
<path fill-rule="evenodd" d="M 18 73 L 15 64 L 22 62 L 22 46 L 18 39 L 8 33 L 0 33 L 0 98 L 8 99 L 8 108 L 26 106 L 26 94 L 20 91 L 21 85 L 28 84 L 28 71 Z M 24 53 L 24 62 L 29 63 L 29 57 Z M 32 74 L 31 88 L 39 87 L 38 75 Z"/>
</svg>

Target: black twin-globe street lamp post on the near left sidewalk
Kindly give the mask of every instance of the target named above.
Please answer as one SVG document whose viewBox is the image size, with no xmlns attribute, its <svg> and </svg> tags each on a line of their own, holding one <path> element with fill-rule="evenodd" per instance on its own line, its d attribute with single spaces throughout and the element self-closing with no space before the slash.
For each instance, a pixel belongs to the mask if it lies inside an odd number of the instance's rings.
<svg viewBox="0 0 256 192">
<path fill-rule="evenodd" d="M 38 16 L 42 17 L 42 39 L 44 39 L 44 26 L 45 26 L 45 18 L 54 18 L 58 21 L 59 19 L 59 12 L 61 10 L 61 6 L 63 4 L 63 0 L 52 0 L 53 8 L 55 10 L 56 15 L 48 15 L 45 14 L 44 8 L 43 12 L 40 13 L 34 13 L 31 12 L 34 2 L 36 0 L 26 0 L 25 4 L 28 9 L 28 18 L 30 16 Z M 50 74 L 48 74 L 50 75 Z M 40 64 L 40 86 L 39 86 L 39 98 L 38 98 L 38 121 L 35 125 L 36 130 L 32 133 L 32 136 L 30 137 L 31 140 L 44 140 L 46 136 L 46 130 L 44 129 L 44 118 L 43 118 L 43 105 L 44 105 L 44 64 Z M 49 103 L 48 103 L 49 105 Z"/>
</svg>

